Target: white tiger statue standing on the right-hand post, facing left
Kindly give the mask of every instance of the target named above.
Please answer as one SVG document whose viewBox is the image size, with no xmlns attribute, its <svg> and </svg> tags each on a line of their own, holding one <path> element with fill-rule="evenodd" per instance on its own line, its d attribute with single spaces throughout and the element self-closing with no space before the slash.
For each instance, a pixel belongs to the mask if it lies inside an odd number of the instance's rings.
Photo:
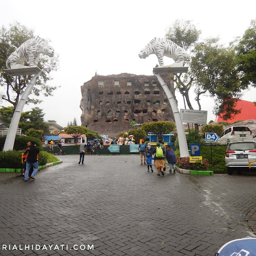
<svg viewBox="0 0 256 256">
<path fill-rule="evenodd" d="M 164 66 L 163 56 L 173 58 L 175 63 L 191 63 L 190 55 L 180 46 L 169 39 L 153 38 L 139 53 L 140 58 L 147 58 L 148 55 L 157 55 L 160 66 Z"/>
</svg>

